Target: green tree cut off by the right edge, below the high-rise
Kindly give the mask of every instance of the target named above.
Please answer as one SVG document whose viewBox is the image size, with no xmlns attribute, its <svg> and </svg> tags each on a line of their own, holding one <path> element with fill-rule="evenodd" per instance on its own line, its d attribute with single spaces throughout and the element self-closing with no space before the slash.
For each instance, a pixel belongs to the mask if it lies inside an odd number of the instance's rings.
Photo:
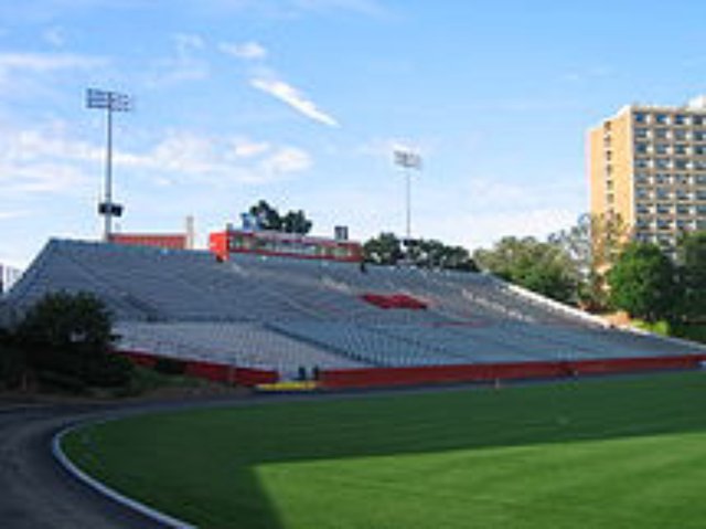
<svg viewBox="0 0 706 529">
<path fill-rule="evenodd" d="M 706 231 L 685 233 L 676 248 L 676 265 L 684 292 L 682 315 L 706 317 Z"/>
</svg>

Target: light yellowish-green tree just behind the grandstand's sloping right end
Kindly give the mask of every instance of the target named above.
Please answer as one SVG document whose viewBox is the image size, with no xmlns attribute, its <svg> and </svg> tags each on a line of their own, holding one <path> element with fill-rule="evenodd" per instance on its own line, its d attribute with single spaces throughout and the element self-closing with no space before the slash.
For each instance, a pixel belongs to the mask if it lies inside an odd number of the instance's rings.
<svg viewBox="0 0 706 529">
<path fill-rule="evenodd" d="M 501 239 L 473 258 L 483 269 L 559 301 L 576 300 L 579 277 L 570 256 L 558 245 L 535 237 Z"/>
</svg>

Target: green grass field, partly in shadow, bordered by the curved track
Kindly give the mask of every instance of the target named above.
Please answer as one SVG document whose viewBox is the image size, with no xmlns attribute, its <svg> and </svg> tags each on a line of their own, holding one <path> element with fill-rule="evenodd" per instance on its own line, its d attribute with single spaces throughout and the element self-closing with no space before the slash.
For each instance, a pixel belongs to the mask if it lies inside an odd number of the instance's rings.
<svg viewBox="0 0 706 529">
<path fill-rule="evenodd" d="M 704 528 L 706 373 L 139 416 L 65 440 L 201 528 Z"/>
</svg>

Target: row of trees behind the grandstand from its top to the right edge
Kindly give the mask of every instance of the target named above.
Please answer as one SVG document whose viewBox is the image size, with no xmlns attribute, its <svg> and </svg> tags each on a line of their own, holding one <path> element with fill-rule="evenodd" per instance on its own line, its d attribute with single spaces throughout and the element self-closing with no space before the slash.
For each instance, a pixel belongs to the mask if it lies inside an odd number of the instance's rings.
<svg viewBox="0 0 706 529">
<path fill-rule="evenodd" d="M 363 245 L 367 262 L 482 269 L 561 303 L 603 313 L 624 310 L 654 322 L 706 317 L 706 232 L 685 232 L 675 258 L 656 244 L 631 242 L 619 216 L 585 214 L 546 240 L 505 236 L 472 254 L 461 246 L 381 233 Z"/>
</svg>

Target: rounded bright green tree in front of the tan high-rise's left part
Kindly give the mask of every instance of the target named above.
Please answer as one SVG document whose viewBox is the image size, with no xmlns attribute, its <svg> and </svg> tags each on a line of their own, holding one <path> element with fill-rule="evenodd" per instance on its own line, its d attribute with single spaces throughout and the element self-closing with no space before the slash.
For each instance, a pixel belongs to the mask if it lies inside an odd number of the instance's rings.
<svg viewBox="0 0 706 529">
<path fill-rule="evenodd" d="M 608 273 L 610 304 L 651 322 L 670 318 L 680 304 L 675 277 L 674 264 L 659 246 L 630 243 Z"/>
</svg>

